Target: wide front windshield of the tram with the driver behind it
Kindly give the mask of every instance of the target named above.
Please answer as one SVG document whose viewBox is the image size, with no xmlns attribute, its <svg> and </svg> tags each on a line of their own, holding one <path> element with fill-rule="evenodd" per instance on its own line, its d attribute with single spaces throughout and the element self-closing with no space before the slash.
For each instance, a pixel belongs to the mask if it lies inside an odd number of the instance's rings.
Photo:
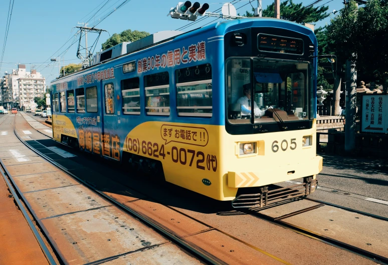
<svg viewBox="0 0 388 265">
<path fill-rule="evenodd" d="M 229 122 L 246 124 L 252 120 L 267 123 L 309 119 L 313 94 L 310 68 L 308 62 L 230 59 L 226 72 Z"/>
</svg>

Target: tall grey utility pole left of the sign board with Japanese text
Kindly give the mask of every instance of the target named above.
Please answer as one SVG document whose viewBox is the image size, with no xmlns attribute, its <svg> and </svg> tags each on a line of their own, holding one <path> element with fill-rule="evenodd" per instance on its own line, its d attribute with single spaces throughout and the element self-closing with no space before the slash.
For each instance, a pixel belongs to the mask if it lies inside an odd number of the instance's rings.
<svg viewBox="0 0 388 265">
<path fill-rule="evenodd" d="M 356 82 L 355 65 L 346 61 L 346 109 L 345 109 L 345 152 L 355 149 L 355 114 L 356 114 Z"/>
</svg>

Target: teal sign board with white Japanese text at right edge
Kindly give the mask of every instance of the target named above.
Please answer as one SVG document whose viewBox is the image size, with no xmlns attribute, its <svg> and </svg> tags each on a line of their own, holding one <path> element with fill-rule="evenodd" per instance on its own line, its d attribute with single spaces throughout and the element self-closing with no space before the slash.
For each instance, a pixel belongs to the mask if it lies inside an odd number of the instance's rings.
<svg viewBox="0 0 388 265">
<path fill-rule="evenodd" d="M 388 95 L 362 96 L 361 131 L 388 133 Z"/>
</svg>

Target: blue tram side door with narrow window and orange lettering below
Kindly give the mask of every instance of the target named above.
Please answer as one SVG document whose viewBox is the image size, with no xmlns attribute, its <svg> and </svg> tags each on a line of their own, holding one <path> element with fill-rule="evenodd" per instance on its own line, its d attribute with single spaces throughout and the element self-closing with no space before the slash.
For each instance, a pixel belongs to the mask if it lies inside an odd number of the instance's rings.
<svg viewBox="0 0 388 265">
<path fill-rule="evenodd" d="M 111 80 L 101 84 L 101 154 L 120 161 L 120 139 L 117 134 L 117 109 L 115 106 L 114 83 Z"/>
</svg>

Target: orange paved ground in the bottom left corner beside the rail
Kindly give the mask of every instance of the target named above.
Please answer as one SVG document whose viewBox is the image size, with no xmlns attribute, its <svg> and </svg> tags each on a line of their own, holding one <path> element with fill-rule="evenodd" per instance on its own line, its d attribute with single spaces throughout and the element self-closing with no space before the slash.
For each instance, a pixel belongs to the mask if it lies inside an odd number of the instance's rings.
<svg viewBox="0 0 388 265">
<path fill-rule="evenodd" d="M 49 264 L 0 175 L 0 264 Z"/>
</svg>

